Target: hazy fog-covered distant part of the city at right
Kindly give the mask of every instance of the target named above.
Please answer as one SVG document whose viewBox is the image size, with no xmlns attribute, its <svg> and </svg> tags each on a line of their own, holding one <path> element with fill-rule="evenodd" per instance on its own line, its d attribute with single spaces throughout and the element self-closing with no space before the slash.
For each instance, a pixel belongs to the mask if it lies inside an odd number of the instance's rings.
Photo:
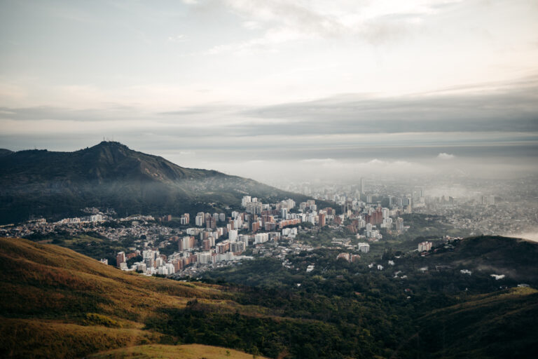
<svg viewBox="0 0 538 359">
<path fill-rule="evenodd" d="M 439 215 L 457 229 L 469 230 L 469 235 L 497 234 L 517 236 L 536 230 L 537 178 L 476 179 L 472 177 L 430 177 L 402 180 L 360 179 L 354 184 L 332 182 L 286 183 L 287 191 L 307 194 L 320 200 L 335 201 L 349 208 L 349 202 L 364 202 L 364 206 L 381 204 L 389 210 L 403 213 Z M 277 187 L 278 184 L 277 184 Z M 394 216 L 391 215 L 391 217 Z M 398 224 L 396 231 L 400 231 Z M 405 226 L 403 227 L 405 230 Z"/>
</svg>

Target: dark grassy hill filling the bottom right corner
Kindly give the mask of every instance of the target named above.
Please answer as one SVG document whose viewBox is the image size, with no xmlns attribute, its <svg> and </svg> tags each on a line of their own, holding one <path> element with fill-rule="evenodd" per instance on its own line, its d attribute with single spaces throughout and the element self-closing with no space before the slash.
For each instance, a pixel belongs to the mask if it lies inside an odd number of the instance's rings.
<svg viewBox="0 0 538 359">
<path fill-rule="evenodd" d="M 535 318 L 538 290 L 521 287 L 478 295 L 420 318 L 421 330 L 411 346 L 421 341 L 421 351 L 431 358 L 532 358 L 538 337 Z"/>
</svg>

